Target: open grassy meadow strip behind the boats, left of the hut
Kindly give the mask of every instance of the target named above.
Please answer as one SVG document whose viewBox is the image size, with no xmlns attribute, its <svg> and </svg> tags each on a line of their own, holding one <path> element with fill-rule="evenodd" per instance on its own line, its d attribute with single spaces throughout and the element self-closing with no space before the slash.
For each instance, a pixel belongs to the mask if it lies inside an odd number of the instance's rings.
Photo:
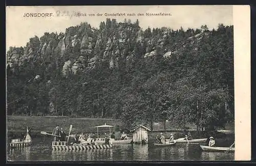
<svg viewBox="0 0 256 166">
<path fill-rule="evenodd" d="M 72 133 L 77 132 L 97 132 L 95 126 L 103 124 L 115 126 L 114 130 L 121 126 L 119 120 L 100 119 L 100 118 L 68 118 L 68 117 L 27 117 L 27 116 L 8 116 L 7 130 L 8 136 L 22 136 L 26 127 L 31 127 L 33 136 L 40 135 L 40 131 L 52 133 L 56 125 L 63 127 L 65 132 L 69 132 L 70 125 L 73 125 Z M 109 131 L 109 128 L 101 128 L 100 131 Z"/>
</svg>

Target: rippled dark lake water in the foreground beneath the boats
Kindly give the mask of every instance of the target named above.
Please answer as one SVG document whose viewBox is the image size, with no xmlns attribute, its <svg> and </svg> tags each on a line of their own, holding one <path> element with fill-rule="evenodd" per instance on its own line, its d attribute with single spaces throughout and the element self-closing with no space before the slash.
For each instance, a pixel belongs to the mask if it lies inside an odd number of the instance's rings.
<svg viewBox="0 0 256 166">
<path fill-rule="evenodd" d="M 8 161 L 233 161 L 234 153 L 203 152 L 197 144 L 154 147 L 152 144 L 114 145 L 112 149 L 53 151 L 51 140 L 36 138 L 30 147 L 8 149 Z"/>
</svg>

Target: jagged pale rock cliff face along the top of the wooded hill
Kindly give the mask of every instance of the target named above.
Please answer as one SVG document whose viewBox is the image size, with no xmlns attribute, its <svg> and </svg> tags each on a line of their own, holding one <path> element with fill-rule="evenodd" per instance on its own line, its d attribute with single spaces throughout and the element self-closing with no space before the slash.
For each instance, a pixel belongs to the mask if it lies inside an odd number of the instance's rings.
<svg viewBox="0 0 256 166">
<path fill-rule="evenodd" d="M 142 31 L 138 23 L 117 23 L 114 19 L 101 22 L 100 29 L 94 29 L 87 22 L 71 26 L 60 34 L 45 33 L 44 36 L 30 38 L 24 48 L 10 48 L 7 53 L 7 64 L 22 66 L 25 62 L 35 63 L 40 60 L 55 63 L 61 68 L 62 75 L 86 72 L 95 68 L 97 62 L 106 62 L 109 68 L 116 68 L 120 61 L 132 61 L 136 56 L 136 46 L 143 47 L 144 58 L 161 54 L 170 58 L 182 49 L 182 44 L 176 47 L 166 47 L 170 42 L 173 30 L 167 28 L 147 29 Z M 200 40 L 202 34 L 194 38 Z M 193 37 L 186 40 L 193 44 Z M 183 42 L 184 44 L 184 42 Z M 53 65 L 53 66 L 54 66 Z"/>
</svg>

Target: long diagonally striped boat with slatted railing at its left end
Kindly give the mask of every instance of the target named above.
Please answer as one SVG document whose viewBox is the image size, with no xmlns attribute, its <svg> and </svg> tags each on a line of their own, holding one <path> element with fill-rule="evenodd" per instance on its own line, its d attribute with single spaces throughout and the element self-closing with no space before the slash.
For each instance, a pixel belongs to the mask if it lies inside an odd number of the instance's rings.
<svg viewBox="0 0 256 166">
<path fill-rule="evenodd" d="M 66 150 L 66 151 L 86 151 L 86 150 L 92 150 L 92 149 L 110 149 L 112 148 L 112 145 L 67 145 L 67 142 L 52 142 L 52 150 Z"/>
</svg>

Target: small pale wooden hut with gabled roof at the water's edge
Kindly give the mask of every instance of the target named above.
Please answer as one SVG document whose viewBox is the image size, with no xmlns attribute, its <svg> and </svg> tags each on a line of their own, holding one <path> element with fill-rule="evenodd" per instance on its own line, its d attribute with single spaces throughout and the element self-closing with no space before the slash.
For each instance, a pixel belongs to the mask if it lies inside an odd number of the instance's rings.
<svg viewBox="0 0 256 166">
<path fill-rule="evenodd" d="M 147 144 L 148 143 L 148 136 L 147 131 L 151 131 L 145 126 L 139 125 L 131 132 L 133 133 L 133 142 L 136 144 Z"/>
</svg>

